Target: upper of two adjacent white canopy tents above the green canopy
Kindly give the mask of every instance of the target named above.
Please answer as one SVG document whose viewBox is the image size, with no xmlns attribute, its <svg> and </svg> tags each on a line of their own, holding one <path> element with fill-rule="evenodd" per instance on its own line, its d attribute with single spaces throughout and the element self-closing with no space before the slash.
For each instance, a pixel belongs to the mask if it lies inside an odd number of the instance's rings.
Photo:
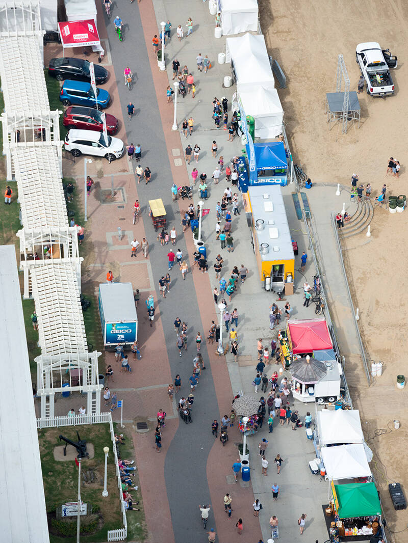
<svg viewBox="0 0 408 543">
<path fill-rule="evenodd" d="M 320 445 L 364 443 L 358 409 L 323 409 L 317 412 Z"/>
</svg>

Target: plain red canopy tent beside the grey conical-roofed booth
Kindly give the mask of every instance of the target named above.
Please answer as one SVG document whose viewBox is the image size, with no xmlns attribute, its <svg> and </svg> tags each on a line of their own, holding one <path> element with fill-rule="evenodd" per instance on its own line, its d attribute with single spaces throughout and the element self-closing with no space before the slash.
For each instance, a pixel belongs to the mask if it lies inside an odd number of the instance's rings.
<svg viewBox="0 0 408 543">
<path fill-rule="evenodd" d="M 294 355 L 333 348 L 329 329 L 324 318 L 290 319 L 287 329 Z"/>
</svg>

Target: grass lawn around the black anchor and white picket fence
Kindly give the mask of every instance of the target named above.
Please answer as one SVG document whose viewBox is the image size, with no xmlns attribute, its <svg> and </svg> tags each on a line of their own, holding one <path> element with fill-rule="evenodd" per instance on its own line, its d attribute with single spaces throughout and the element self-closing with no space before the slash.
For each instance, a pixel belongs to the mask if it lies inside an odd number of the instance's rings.
<svg viewBox="0 0 408 543">
<path fill-rule="evenodd" d="M 54 460 L 53 450 L 60 443 L 58 436 L 77 440 L 76 430 L 78 430 L 81 439 L 92 443 L 95 447 L 95 457 L 84 459 L 82 461 L 82 471 L 94 470 L 96 481 L 93 483 L 81 482 L 81 499 L 83 502 L 92 504 L 92 510 L 99 510 L 103 525 L 92 535 L 81 535 L 82 543 L 92 541 L 106 541 L 107 531 L 110 529 L 121 528 L 123 526 L 123 517 L 120 510 L 119 489 L 116 479 L 114 457 L 112 453 L 112 442 L 110 441 L 109 424 L 94 424 L 84 426 L 68 426 L 62 428 L 47 428 L 39 430 L 39 443 L 41 454 L 42 477 L 44 481 L 44 491 L 47 512 L 52 513 L 55 508 L 60 507 L 65 502 L 77 500 L 78 489 L 78 468 L 75 462 L 57 462 Z M 118 429 L 119 431 L 119 429 Z M 125 434 L 121 431 L 120 433 Z M 125 435 L 126 445 L 121 446 L 121 456 L 126 459 L 133 459 L 133 447 L 131 437 Z M 109 496 L 102 497 L 103 473 L 104 473 L 104 453 L 103 447 L 109 447 L 108 457 L 108 492 Z M 71 445 L 68 445 L 71 447 Z M 138 485 L 137 470 L 134 477 L 134 484 Z M 137 539 L 143 541 L 146 538 L 146 528 L 143 513 L 143 504 L 140 490 L 132 490 L 131 494 L 134 503 L 139 501 L 139 511 L 128 511 L 128 539 Z M 75 519 L 76 522 L 76 519 Z M 74 541 L 75 538 L 61 537 L 50 534 L 52 543 L 62 543 L 63 541 Z"/>
</svg>

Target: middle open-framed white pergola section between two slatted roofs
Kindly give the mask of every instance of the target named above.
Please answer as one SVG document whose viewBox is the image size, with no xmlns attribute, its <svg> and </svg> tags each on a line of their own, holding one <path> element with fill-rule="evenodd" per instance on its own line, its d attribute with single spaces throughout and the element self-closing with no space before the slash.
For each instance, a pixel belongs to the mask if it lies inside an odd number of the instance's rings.
<svg viewBox="0 0 408 543">
<path fill-rule="evenodd" d="M 75 265 L 78 291 L 81 292 L 83 257 L 79 256 L 76 226 L 58 229 L 40 227 L 32 230 L 23 228 L 17 232 L 17 236 L 20 238 L 20 269 L 24 272 L 24 300 L 32 295 L 30 273 L 33 267 L 55 263 L 72 262 Z"/>
</svg>

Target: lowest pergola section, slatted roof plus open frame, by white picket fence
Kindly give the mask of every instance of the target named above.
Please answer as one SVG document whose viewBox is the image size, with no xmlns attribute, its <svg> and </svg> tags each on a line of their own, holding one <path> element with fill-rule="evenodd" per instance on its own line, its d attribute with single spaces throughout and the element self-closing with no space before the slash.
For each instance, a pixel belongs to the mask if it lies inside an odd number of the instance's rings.
<svg viewBox="0 0 408 543">
<path fill-rule="evenodd" d="M 41 418 L 53 418 L 55 393 L 63 392 L 86 393 L 87 412 L 100 413 L 101 353 L 88 352 L 75 266 L 54 263 L 30 271 L 41 348 L 35 358 Z"/>
</svg>

